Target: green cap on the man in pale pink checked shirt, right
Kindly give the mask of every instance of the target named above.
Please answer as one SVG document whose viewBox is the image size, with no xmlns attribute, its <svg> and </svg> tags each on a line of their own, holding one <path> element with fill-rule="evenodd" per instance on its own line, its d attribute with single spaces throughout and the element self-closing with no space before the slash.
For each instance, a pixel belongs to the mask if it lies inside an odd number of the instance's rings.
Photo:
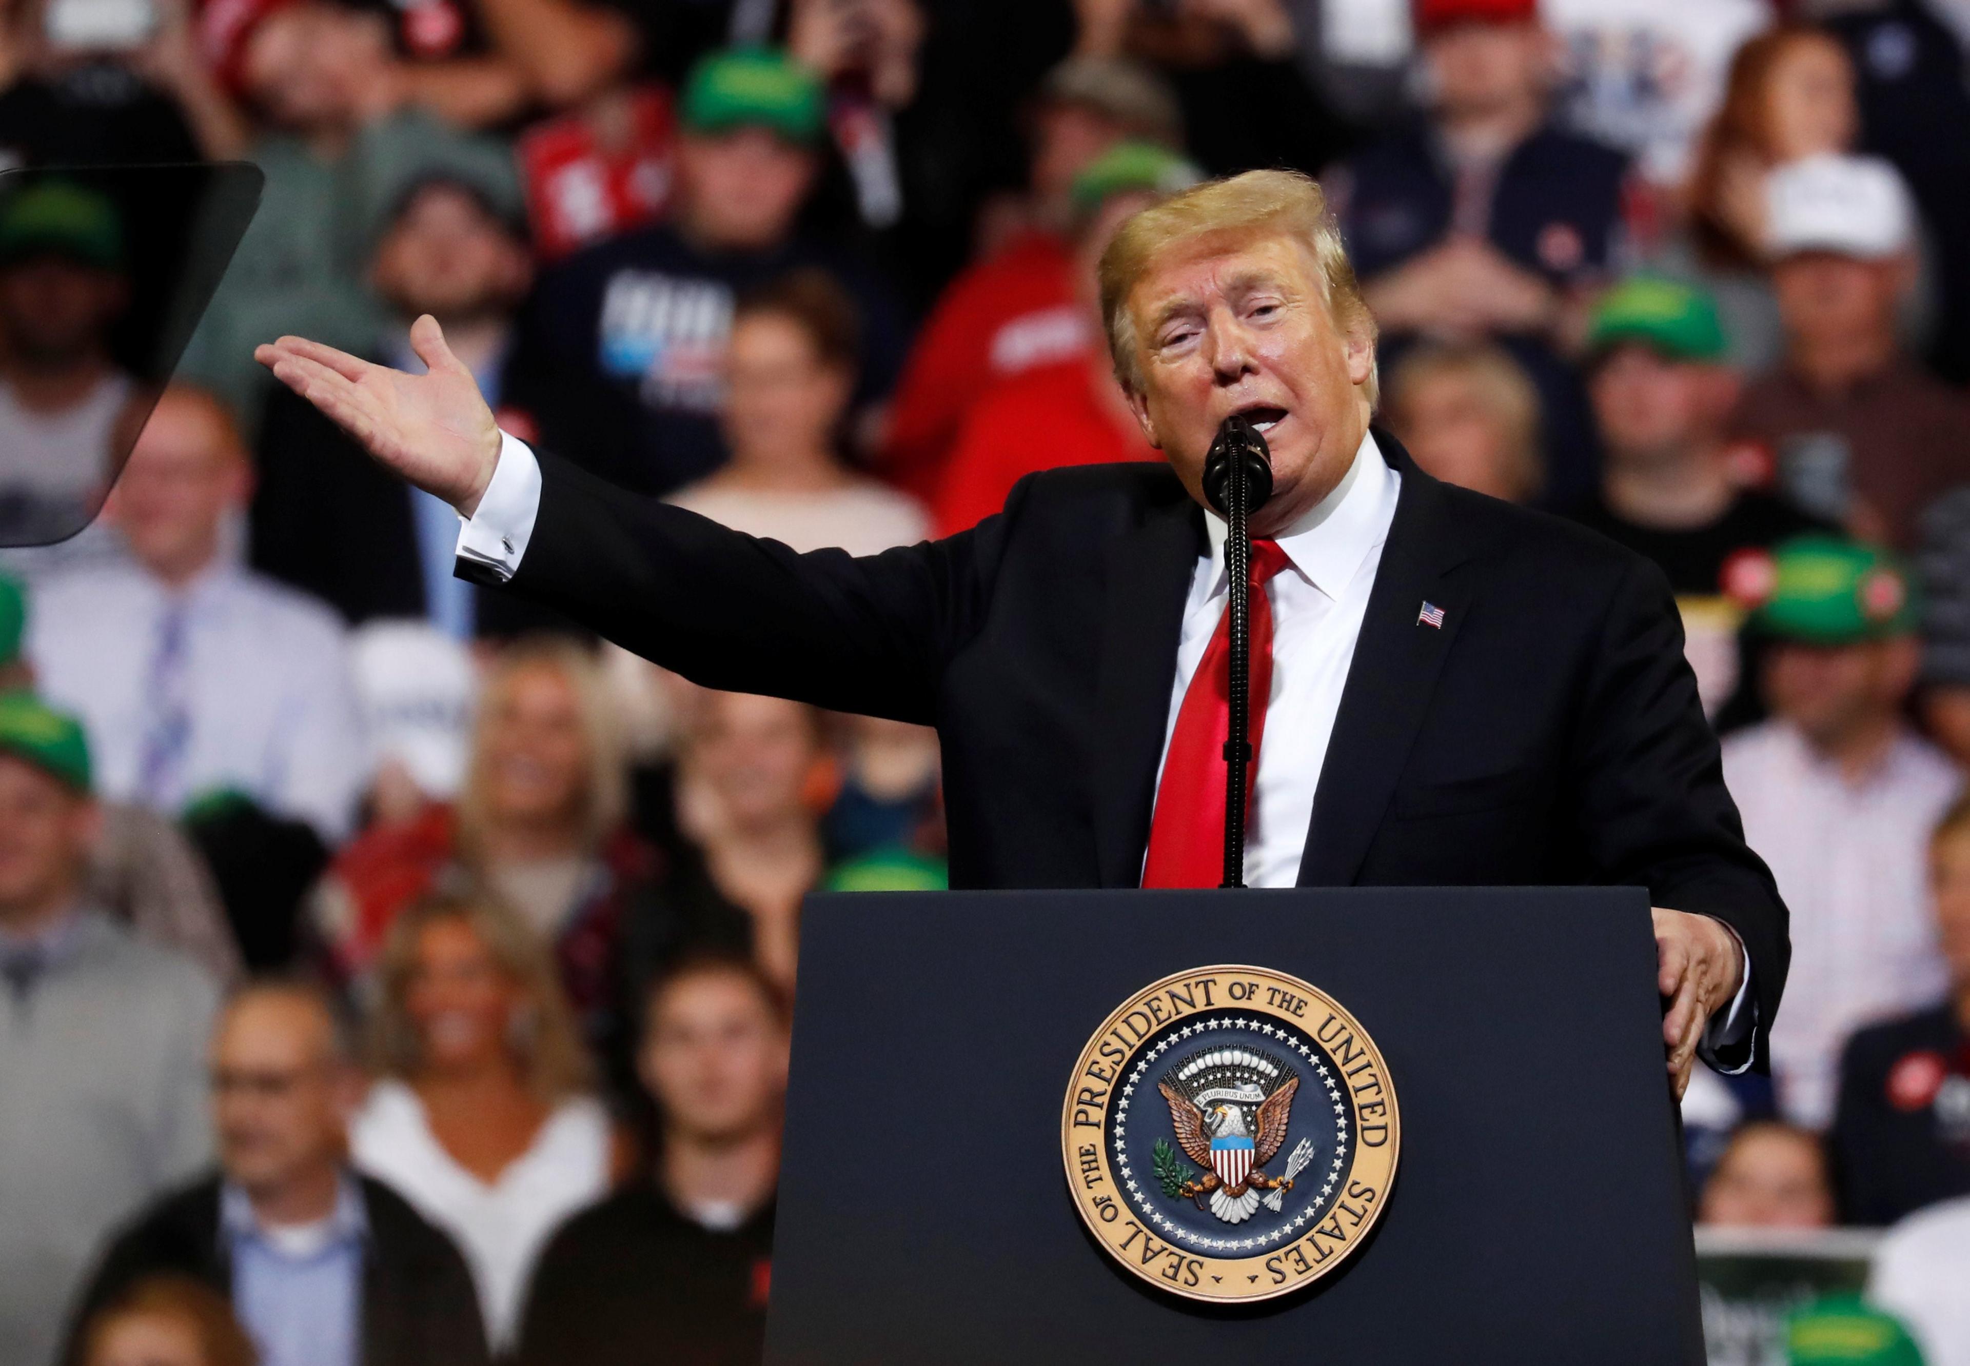
<svg viewBox="0 0 1970 1366">
<path fill-rule="evenodd" d="M 1842 535 L 1795 535 L 1771 553 L 1771 592 L 1753 618 L 1767 636 L 1852 646 L 1915 630 L 1915 589 L 1887 551 Z"/>
</svg>

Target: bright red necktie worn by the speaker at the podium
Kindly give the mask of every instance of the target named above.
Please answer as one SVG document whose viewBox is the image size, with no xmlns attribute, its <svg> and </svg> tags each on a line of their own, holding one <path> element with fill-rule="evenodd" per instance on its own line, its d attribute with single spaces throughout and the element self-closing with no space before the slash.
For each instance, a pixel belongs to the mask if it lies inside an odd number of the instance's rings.
<svg viewBox="0 0 1970 1366">
<path fill-rule="evenodd" d="M 1245 809 L 1259 777 L 1265 701 L 1273 693 L 1273 600 L 1265 585 L 1286 567 L 1277 541 L 1251 543 L 1251 754 Z M 1215 888 L 1225 872 L 1225 740 L 1231 734 L 1231 602 L 1176 711 L 1149 827 L 1145 888 Z"/>
</svg>

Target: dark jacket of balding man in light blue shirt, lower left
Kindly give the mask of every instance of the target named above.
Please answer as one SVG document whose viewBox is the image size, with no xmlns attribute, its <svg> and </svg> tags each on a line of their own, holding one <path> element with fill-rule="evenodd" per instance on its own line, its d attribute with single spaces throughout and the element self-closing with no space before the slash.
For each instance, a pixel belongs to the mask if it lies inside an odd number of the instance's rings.
<svg viewBox="0 0 1970 1366">
<path fill-rule="evenodd" d="M 362 1366 L 485 1366 L 485 1325 L 465 1258 L 396 1191 L 368 1177 L 361 1185 L 368 1216 Z M 79 1366 L 89 1317 L 146 1275 L 189 1275 L 230 1299 L 217 1175 L 164 1197 L 116 1234 L 77 1303 L 65 1362 Z"/>
</svg>

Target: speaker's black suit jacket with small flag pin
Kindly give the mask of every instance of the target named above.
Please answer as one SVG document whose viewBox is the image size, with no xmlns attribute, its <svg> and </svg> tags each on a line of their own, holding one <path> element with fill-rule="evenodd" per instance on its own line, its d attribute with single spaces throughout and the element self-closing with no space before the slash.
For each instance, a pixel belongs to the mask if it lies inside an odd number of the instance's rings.
<svg viewBox="0 0 1970 1366">
<path fill-rule="evenodd" d="M 1300 886 L 1645 886 L 1738 931 L 1769 1025 L 1785 905 L 1661 571 L 1377 439 L 1403 492 Z M 1034 474 L 975 529 L 869 559 L 796 555 L 546 455 L 542 478 L 514 590 L 707 687 L 936 724 L 955 888 L 1137 886 L 1206 549 L 1170 468 Z"/>
</svg>

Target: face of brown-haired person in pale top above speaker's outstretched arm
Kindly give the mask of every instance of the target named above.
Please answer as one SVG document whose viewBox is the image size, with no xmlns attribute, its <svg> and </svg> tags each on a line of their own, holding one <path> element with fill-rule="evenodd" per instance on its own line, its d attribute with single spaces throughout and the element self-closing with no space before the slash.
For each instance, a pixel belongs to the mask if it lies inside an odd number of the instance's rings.
<svg viewBox="0 0 1970 1366">
<path fill-rule="evenodd" d="M 725 350 L 725 439 L 751 468 L 812 461 L 849 404 L 849 376 L 784 313 L 747 313 Z"/>
</svg>

